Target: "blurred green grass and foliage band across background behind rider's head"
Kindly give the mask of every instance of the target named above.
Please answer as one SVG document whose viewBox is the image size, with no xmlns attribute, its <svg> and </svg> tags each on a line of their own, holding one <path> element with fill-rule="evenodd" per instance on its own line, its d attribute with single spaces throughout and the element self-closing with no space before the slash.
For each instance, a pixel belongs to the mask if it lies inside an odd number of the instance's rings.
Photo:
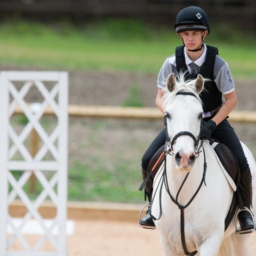
<svg viewBox="0 0 256 256">
<path fill-rule="evenodd" d="M 211 32 L 206 43 L 218 46 L 234 76 L 255 78 L 253 38 L 239 31 Z M 214 28 L 212 28 L 214 31 Z M 40 69 L 110 70 L 157 74 L 164 60 L 181 44 L 173 29 L 138 20 L 68 22 L 42 25 L 9 21 L 0 26 L 0 64 Z"/>
</svg>

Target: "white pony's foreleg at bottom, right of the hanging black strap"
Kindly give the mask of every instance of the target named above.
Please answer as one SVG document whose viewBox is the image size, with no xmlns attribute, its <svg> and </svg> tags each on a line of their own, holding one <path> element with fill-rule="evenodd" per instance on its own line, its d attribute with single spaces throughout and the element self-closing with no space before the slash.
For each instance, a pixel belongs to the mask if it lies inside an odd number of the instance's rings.
<svg viewBox="0 0 256 256">
<path fill-rule="evenodd" d="M 198 254 L 200 256 L 217 256 L 221 241 L 222 236 L 218 234 L 212 234 L 211 236 L 206 238 L 204 242 L 199 246 Z"/>
</svg>

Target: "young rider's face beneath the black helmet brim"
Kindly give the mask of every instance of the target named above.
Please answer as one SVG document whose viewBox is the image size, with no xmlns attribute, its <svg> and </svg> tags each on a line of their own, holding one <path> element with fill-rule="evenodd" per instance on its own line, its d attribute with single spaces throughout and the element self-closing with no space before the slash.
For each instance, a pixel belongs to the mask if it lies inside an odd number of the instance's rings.
<svg viewBox="0 0 256 256">
<path fill-rule="evenodd" d="M 180 32 L 179 35 L 183 39 L 187 49 L 195 50 L 202 45 L 202 38 L 205 37 L 207 33 L 207 31 L 187 30 Z"/>
</svg>

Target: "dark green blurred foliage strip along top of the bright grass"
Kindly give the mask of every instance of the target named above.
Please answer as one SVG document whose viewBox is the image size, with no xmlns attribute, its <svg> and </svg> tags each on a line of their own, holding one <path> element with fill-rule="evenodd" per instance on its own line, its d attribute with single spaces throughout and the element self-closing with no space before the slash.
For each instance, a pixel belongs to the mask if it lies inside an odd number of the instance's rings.
<svg viewBox="0 0 256 256">
<path fill-rule="evenodd" d="M 106 18 L 91 19 L 75 25 L 69 19 L 42 23 L 19 18 L 9 18 L 0 23 L 0 35 L 27 37 L 81 37 L 94 40 L 114 41 L 169 41 L 173 39 L 173 26 L 163 23 L 147 23 L 140 19 Z M 213 41 L 222 43 L 251 44 L 255 36 L 249 31 L 237 29 L 231 23 L 211 25 L 209 35 Z M 178 40 L 179 38 L 178 38 Z"/>
</svg>

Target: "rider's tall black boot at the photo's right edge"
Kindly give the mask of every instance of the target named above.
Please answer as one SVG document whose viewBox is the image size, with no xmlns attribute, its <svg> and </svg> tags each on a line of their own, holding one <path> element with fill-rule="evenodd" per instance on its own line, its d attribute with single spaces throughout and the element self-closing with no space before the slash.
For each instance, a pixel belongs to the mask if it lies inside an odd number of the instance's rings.
<svg viewBox="0 0 256 256">
<path fill-rule="evenodd" d="M 244 207 L 247 207 L 250 210 L 252 204 L 252 177 L 249 168 L 246 171 L 241 172 L 239 191 L 241 193 Z M 240 231 L 248 230 L 247 233 L 254 231 L 254 222 L 250 212 L 242 210 L 238 213 L 238 220 L 241 227 Z"/>
</svg>

